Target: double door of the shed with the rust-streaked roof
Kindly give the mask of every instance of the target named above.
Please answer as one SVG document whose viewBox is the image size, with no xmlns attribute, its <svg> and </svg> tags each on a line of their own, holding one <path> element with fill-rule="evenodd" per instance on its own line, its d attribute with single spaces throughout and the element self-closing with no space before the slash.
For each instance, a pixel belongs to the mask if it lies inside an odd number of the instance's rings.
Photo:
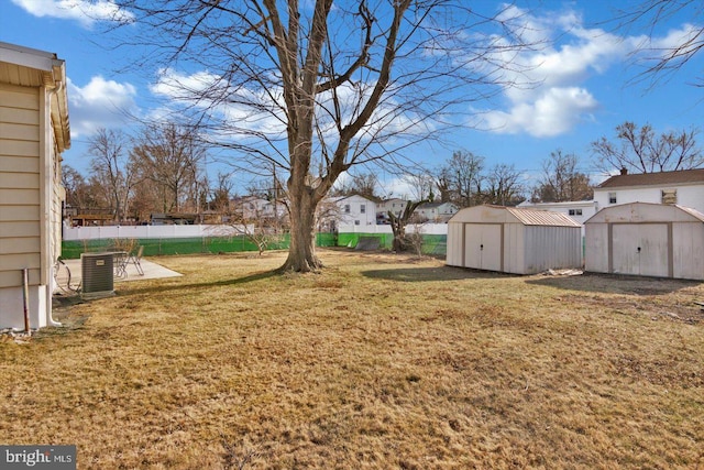
<svg viewBox="0 0 704 470">
<path fill-rule="evenodd" d="M 464 265 L 479 270 L 501 271 L 502 226 L 469 223 L 464 233 Z"/>
</svg>

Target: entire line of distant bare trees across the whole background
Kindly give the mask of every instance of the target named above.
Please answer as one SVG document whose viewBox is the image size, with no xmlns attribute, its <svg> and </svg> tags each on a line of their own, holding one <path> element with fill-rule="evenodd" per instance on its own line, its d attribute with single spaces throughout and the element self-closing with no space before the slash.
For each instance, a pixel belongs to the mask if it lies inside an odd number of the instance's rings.
<svg viewBox="0 0 704 470">
<path fill-rule="evenodd" d="M 657 134 L 650 124 L 624 122 L 615 139 L 592 142 L 593 166 L 605 174 L 690 170 L 704 166 L 696 144 L 696 130 Z M 187 128 L 174 123 L 144 127 L 135 136 L 120 130 L 100 129 L 88 141 L 89 174 L 64 166 L 67 204 L 81 209 L 103 209 L 116 223 L 150 220 L 154 212 L 212 211 L 227 214 L 234 197 L 232 174 L 218 173 L 213 181 L 206 172 L 207 147 Z M 458 207 L 481 204 L 515 206 L 534 203 L 588 200 L 593 184 L 580 170 L 574 153 L 558 149 L 541 162 L 531 183 L 515 165 L 487 167 L 484 156 L 455 151 L 435 171 L 406 174 L 411 201 L 452 203 Z M 272 179 L 273 178 L 273 179 Z M 274 183 L 271 183 L 273 181 Z M 280 200 L 283 183 L 272 174 L 267 183 L 246 188 L 249 195 Z M 331 195 L 359 194 L 372 200 L 391 195 L 374 173 L 354 172 L 332 188 Z"/>
</svg>

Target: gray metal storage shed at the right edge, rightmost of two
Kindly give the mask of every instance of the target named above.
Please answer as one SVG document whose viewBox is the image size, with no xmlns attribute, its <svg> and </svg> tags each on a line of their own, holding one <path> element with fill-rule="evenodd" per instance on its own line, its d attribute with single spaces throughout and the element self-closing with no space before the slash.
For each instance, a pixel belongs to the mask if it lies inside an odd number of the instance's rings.
<svg viewBox="0 0 704 470">
<path fill-rule="evenodd" d="M 586 271 L 704 280 L 704 215 L 695 209 L 623 204 L 584 226 Z"/>
</svg>

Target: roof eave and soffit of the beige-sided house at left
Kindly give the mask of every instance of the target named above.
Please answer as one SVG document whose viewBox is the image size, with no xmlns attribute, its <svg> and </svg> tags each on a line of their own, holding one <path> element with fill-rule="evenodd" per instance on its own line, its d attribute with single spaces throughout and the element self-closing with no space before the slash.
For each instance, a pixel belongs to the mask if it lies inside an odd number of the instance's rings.
<svg viewBox="0 0 704 470">
<path fill-rule="evenodd" d="M 59 152 L 70 146 L 66 63 L 56 54 L 0 42 L 0 83 L 22 87 L 46 87 L 51 95 L 54 135 Z"/>
</svg>

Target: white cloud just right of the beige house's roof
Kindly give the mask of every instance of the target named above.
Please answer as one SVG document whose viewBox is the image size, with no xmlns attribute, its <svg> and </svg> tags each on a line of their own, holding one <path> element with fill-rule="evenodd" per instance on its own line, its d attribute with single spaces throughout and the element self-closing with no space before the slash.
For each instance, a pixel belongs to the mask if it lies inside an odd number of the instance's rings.
<svg viewBox="0 0 704 470">
<path fill-rule="evenodd" d="M 138 112 L 136 89 L 95 76 L 85 87 L 68 79 L 68 106 L 72 136 L 90 135 L 99 128 L 122 127 L 129 114 Z"/>
</svg>

